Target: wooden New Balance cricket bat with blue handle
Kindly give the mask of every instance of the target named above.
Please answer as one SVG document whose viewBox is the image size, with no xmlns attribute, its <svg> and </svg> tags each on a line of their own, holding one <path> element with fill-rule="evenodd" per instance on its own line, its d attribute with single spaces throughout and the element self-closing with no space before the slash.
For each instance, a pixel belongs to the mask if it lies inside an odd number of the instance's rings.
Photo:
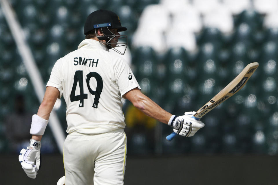
<svg viewBox="0 0 278 185">
<path fill-rule="evenodd" d="M 215 107 L 219 106 L 221 103 L 226 101 L 228 98 L 233 96 L 235 93 L 237 93 L 241 88 L 243 88 L 246 84 L 246 82 L 250 79 L 250 77 L 253 75 L 253 73 L 256 71 L 257 67 L 259 66 L 258 62 L 250 63 L 248 64 L 238 75 L 233 79 L 232 82 L 230 82 L 224 89 L 222 89 L 220 92 L 218 92 L 217 95 L 215 95 L 208 103 L 206 103 L 204 106 L 202 106 L 196 114 L 194 114 L 192 117 L 196 120 L 200 120 L 204 115 L 206 115 L 208 112 L 213 110 Z M 166 139 L 168 141 L 171 141 L 176 135 L 175 132 L 168 135 Z"/>
</svg>

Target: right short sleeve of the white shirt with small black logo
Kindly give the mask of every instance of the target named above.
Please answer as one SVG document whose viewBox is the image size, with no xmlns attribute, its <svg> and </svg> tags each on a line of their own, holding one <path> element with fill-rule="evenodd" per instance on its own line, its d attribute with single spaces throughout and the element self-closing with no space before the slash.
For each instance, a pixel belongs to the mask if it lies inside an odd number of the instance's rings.
<svg viewBox="0 0 278 185">
<path fill-rule="evenodd" d="M 116 64 L 114 65 L 114 71 L 116 83 L 118 84 L 121 96 L 136 87 L 141 89 L 129 65 L 127 64 L 127 62 L 125 62 L 125 60 L 122 59 L 116 62 Z"/>
</svg>

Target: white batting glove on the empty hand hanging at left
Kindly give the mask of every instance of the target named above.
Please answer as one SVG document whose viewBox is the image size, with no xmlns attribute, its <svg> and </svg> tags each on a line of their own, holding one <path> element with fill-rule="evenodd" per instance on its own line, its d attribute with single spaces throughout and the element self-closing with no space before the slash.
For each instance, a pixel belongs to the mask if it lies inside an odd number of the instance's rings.
<svg viewBox="0 0 278 185">
<path fill-rule="evenodd" d="M 41 142 L 31 139 L 29 147 L 22 149 L 18 159 L 28 177 L 34 179 L 41 167 Z"/>
</svg>

